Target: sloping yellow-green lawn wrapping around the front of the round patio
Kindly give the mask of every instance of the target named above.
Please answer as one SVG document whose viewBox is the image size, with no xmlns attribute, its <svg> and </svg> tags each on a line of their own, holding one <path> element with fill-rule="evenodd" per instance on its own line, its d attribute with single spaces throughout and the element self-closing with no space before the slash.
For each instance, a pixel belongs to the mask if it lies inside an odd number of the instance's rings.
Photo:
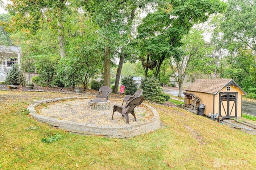
<svg viewBox="0 0 256 170">
<path fill-rule="evenodd" d="M 182 109 L 152 105 L 163 127 L 128 138 L 68 133 L 26 115 L 33 100 L 59 93 L 0 91 L 0 169 L 3 170 L 252 170 L 256 136 Z M 26 130 L 27 127 L 40 127 Z M 49 134 L 61 138 L 53 143 Z"/>
</svg>

